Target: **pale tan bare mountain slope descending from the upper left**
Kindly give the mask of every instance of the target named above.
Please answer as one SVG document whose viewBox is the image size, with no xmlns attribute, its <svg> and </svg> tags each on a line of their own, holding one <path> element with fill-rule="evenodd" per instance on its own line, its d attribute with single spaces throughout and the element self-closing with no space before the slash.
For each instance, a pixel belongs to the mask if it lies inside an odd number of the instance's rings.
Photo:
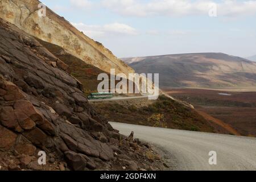
<svg viewBox="0 0 256 182">
<path fill-rule="evenodd" d="M 94 42 L 48 8 L 46 17 L 38 16 L 39 3 L 38 0 L 1 0 L 0 18 L 36 38 L 63 47 L 71 55 L 105 72 L 110 72 L 110 68 L 115 68 L 116 73 L 134 72 L 101 43 Z"/>
</svg>

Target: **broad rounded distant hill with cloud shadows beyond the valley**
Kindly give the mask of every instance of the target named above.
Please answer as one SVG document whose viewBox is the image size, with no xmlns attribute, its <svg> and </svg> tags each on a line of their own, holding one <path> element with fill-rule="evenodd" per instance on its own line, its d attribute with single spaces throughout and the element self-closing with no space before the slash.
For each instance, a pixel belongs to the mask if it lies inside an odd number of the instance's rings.
<svg viewBox="0 0 256 182">
<path fill-rule="evenodd" d="M 256 63 L 224 53 L 187 53 L 122 60 L 138 73 L 160 73 L 162 88 L 256 86 Z"/>
</svg>

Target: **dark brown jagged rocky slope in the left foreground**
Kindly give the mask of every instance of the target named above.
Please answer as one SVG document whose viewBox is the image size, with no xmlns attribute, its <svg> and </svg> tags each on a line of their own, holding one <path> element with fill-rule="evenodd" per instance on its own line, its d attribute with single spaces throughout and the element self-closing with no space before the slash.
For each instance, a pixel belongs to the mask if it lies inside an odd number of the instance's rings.
<svg viewBox="0 0 256 182">
<path fill-rule="evenodd" d="M 34 37 L 0 19 L 0 42 L 1 170 L 163 169 L 94 111 L 67 65 Z"/>
</svg>

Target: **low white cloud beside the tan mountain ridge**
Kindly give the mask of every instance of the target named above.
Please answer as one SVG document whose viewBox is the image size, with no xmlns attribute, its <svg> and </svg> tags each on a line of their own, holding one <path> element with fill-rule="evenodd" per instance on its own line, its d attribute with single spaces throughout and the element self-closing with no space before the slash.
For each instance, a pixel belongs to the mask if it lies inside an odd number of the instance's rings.
<svg viewBox="0 0 256 182">
<path fill-rule="evenodd" d="M 84 32 L 85 35 L 93 39 L 102 38 L 104 36 L 116 35 L 137 35 L 135 28 L 123 23 L 111 23 L 100 25 L 87 25 L 84 23 L 72 23 L 78 30 Z"/>
</svg>

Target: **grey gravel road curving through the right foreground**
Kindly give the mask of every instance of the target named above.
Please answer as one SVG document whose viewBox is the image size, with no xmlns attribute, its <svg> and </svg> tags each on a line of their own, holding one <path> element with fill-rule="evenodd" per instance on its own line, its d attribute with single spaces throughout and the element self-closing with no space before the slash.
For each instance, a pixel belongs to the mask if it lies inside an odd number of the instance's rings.
<svg viewBox="0 0 256 182">
<path fill-rule="evenodd" d="M 110 122 L 121 134 L 147 141 L 174 156 L 177 170 L 256 170 L 256 138 Z M 217 165 L 209 152 L 217 152 Z"/>
</svg>

